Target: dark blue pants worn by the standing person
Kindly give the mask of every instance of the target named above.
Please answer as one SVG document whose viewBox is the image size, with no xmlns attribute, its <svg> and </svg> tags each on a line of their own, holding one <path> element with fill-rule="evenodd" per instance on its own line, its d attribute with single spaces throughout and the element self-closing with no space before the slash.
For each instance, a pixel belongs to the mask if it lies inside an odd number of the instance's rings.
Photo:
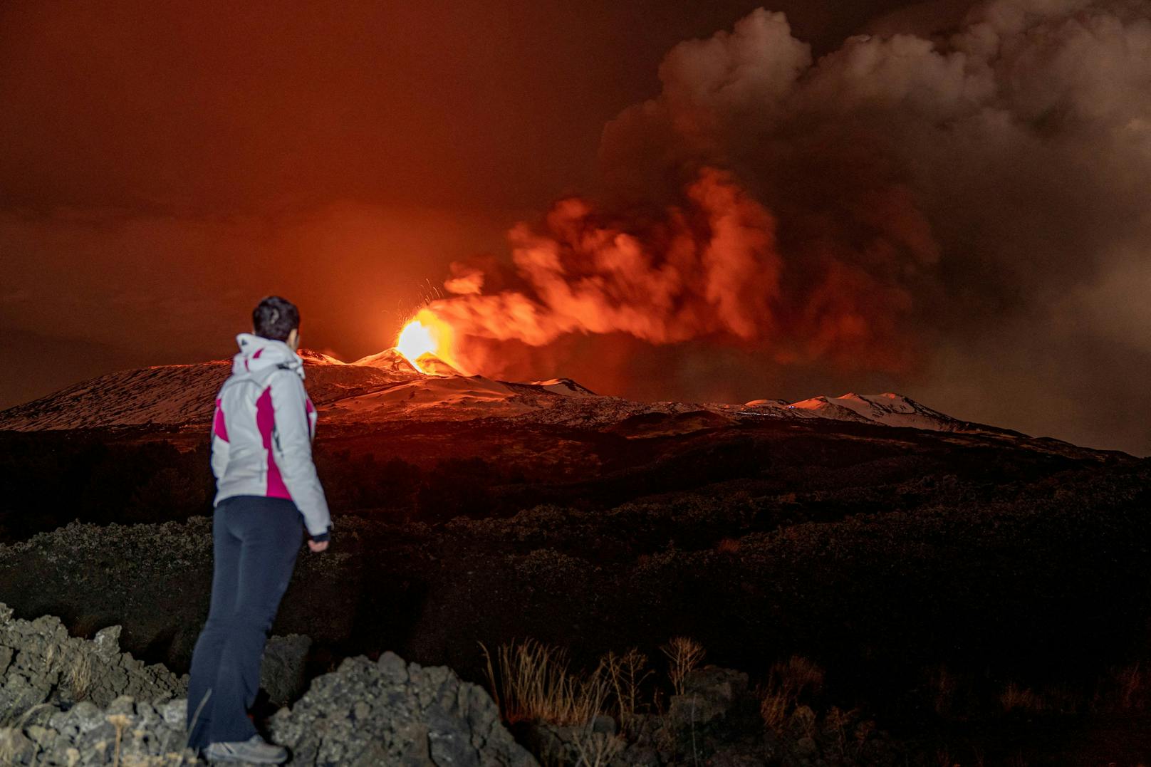
<svg viewBox="0 0 1151 767">
<path fill-rule="evenodd" d="M 192 749 L 256 735 L 247 709 L 303 538 L 303 517 L 285 499 L 238 495 L 216 506 L 212 607 L 192 651 L 188 688 Z"/>
</svg>

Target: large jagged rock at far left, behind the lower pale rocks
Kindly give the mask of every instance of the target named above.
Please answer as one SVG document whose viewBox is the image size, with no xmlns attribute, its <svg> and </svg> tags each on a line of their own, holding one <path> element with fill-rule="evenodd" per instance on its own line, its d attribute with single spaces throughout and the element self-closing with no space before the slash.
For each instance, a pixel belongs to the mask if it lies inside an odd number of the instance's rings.
<svg viewBox="0 0 1151 767">
<path fill-rule="evenodd" d="M 0 605 L 0 724 L 40 704 L 67 707 L 91 700 L 108 706 L 125 694 L 155 701 L 186 694 L 186 676 L 120 652 L 120 626 L 102 629 L 87 641 L 68 636 L 59 618 L 21 621 L 12 615 Z"/>
</svg>

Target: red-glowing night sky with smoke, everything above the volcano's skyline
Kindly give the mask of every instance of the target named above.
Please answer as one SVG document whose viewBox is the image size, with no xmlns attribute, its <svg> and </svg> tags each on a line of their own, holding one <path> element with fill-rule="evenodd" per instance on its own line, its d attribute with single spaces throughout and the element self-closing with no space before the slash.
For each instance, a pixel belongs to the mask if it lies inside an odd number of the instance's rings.
<svg viewBox="0 0 1151 767">
<path fill-rule="evenodd" d="M 5 3 L 0 407 L 273 293 L 352 360 L 482 274 L 478 372 L 1151 453 L 1151 3 L 901 6 Z"/>
</svg>

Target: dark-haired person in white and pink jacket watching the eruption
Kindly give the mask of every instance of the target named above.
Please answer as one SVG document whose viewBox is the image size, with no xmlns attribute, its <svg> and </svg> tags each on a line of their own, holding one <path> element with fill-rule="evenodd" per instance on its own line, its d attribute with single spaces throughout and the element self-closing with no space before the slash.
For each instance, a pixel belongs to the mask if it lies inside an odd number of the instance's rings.
<svg viewBox="0 0 1151 767">
<path fill-rule="evenodd" d="M 260 737 L 247 709 L 304 532 L 322 552 L 331 518 L 312 463 L 317 415 L 296 354 L 299 311 L 269 296 L 236 341 L 212 419 L 212 606 L 192 652 L 189 746 L 214 761 L 279 765 L 288 752 Z"/>
</svg>

